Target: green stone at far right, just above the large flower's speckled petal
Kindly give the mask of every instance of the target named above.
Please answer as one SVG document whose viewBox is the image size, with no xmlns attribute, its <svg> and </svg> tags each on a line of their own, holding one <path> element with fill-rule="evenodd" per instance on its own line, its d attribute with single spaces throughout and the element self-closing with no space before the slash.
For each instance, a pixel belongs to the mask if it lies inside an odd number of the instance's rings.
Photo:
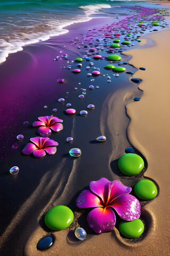
<svg viewBox="0 0 170 256">
<path fill-rule="evenodd" d="M 157 196 L 157 188 L 151 180 L 140 180 L 134 186 L 134 193 L 143 200 L 151 200 Z"/>
</svg>

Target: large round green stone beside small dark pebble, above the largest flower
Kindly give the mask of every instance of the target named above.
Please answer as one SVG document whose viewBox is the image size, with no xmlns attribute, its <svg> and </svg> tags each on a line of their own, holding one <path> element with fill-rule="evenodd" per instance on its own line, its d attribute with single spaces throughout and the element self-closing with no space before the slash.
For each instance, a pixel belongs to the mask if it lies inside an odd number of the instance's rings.
<svg viewBox="0 0 170 256">
<path fill-rule="evenodd" d="M 140 173 L 144 167 L 142 157 L 136 154 L 125 154 L 118 159 L 118 169 L 125 175 L 132 176 Z"/>
</svg>

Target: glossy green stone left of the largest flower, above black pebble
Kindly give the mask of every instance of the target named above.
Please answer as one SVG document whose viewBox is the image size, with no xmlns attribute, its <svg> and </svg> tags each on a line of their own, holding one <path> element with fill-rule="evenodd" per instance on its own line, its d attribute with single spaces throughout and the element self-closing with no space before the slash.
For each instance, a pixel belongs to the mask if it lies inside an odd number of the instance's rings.
<svg viewBox="0 0 170 256">
<path fill-rule="evenodd" d="M 45 224 L 49 229 L 62 230 L 70 226 L 74 214 L 69 207 L 58 205 L 50 209 L 45 215 Z"/>
</svg>

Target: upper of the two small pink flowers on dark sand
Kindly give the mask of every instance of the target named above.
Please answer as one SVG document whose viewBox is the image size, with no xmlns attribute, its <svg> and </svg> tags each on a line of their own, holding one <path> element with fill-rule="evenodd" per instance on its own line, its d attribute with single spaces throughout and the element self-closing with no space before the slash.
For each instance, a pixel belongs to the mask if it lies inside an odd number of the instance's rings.
<svg viewBox="0 0 170 256">
<path fill-rule="evenodd" d="M 60 132 L 61 130 L 63 130 L 63 125 L 61 124 L 63 123 L 63 120 L 59 119 L 58 117 L 55 117 L 53 115 L 40 116 L 38 117 L 38 119 L 39 121 L 33 122 L 32 126 L 40 126 L 37 132 L 42 137 L 49 136 L 52 133 L 50 129 L 52 129 L 54 132 Z"/>
</svg>

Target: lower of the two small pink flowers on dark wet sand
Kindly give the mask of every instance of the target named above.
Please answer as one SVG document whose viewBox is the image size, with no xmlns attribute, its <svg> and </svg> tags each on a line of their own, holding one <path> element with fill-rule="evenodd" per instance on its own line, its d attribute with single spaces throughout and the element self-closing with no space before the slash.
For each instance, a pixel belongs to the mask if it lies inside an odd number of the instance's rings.
<svg viewBox="0 0 170 256">
<path fill-rule="evenodd" d="M 32 153 L 35 157 L 43 157 L 46 153 L 54 155 L 57 151 L 56 146 L 58 143 L 49 138 L 35 137 L 30 138 L 30 141 L 22 150 L 22 153 L 25 155 Z"/>
</svg>

